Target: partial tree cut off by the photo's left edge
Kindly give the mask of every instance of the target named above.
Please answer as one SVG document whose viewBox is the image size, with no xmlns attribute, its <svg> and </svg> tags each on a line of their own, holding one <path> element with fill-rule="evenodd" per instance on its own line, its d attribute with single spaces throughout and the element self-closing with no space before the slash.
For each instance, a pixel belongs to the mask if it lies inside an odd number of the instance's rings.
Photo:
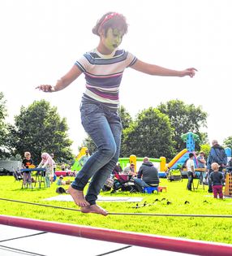
<svg viewBox="0 0 232 256">
<path fill-rule="evenodd" d="M 4 94 L 0 92 L 0 158 L 9 156 L 9 153 L 6 150 L 6 135 L 8 127 L 5 123 L 6 115 L 6 100 L 4 99 Z"/>
</svg>

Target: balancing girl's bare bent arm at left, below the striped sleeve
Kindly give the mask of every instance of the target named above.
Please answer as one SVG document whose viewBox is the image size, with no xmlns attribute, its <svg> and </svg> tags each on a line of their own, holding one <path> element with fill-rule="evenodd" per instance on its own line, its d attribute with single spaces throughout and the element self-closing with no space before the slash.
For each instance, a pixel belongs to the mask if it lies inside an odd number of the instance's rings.
<svg viewBox="0 0 232 256">
<path fill-rule="evenodd" d="M 55 86 L 39 85 L 36 89 L 41 89 L 45 93 L 60 91 L 70 85 L 79 75 L 81 75 L 81 73 L 82 72 L 79 70 L 79 68 L 74 65 L 65 76 L 62 76 L 62 78 L 57 81 Z"/>
</svg>

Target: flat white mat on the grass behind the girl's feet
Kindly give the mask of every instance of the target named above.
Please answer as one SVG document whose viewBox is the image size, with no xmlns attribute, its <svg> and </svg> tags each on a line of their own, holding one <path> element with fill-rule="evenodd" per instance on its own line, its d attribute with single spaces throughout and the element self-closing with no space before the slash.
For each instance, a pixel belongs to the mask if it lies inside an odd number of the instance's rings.
<svg viewBox="0 0 232 256">
<path fill-rule="evenodd" d="M 101 197 L 98 196 L 97 201 L 101 202 L 141 202 L 144 197 Z M 73 202 L 71 195 L 58 195 L 56 197 L 49 197 L 45 201 L 62 201 Z"/>
</svg>

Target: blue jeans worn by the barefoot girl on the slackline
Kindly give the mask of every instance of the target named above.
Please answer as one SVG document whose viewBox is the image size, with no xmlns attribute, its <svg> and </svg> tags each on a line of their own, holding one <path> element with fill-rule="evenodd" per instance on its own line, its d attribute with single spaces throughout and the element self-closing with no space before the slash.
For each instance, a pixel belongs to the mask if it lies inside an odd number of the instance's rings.
<svg viewBox="0 0 232 256">
<path fill-rule="evenodd" d="M 92 177 L 85 199 L 90 205 L 94 205 L 105 180 L 118 162 L 122 124 L 118 113 L 110 111 L 101 103 L 83 102 L 80 112 L 81 122 L 85 131 L 97 145 L 97 152 L 88 158 L 71 186 L 73 189 L 83 191 Z"/>
</svg>

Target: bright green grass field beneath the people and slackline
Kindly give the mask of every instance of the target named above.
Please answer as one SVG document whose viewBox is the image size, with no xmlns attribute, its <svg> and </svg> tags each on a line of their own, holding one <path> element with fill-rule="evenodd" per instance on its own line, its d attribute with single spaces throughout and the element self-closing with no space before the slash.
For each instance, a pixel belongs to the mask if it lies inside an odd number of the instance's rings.
<svg viewBox="0 0 232 256">
<path fill-rule="evenodd" d="M 72 178 L 73 179 L 73 178 Z M 197 180 L 195 180 L 196 184 Z M 77 208 L 74 202 L 44 201 L 47 197 L 57 195 L 56 184 L 49 189 L 21 189 L 21 183 L 15 181 L 12 176 L 0 176 L 0 197 L 25 202 L 36 202 L 52 206 Z M 167 186 L 167 193 L 129 193 L 102 192 L 101 196 L 107 197 L 143 197 L 144 202 L 152 203 L 152 206 L 144 206 L 135 209 L 136 202 L 98 202 L 109 212 L 130 213 L 168 213 L 188 215 L 230 215 L 232 211 L 232 198 L 217 200 L 208 194 L 208 187 L 198 189 L 195 192 L 186 190 L 187 180 L 182 182 L 161 180 L 161 185 Z M 67 189 L 67 186 L 65 186 Z M 202 188 L 202 187 L 201 187 Z M 165 200 L 154 202 L 156 199 Z M 171 202 L 167 205 L 167 200 Z M 204 202 L 204 201 L 207 202 Z M 188 201 L 189 204 L 184 202 Z M 17 202 L 0 200 L 2 215 L 19 216 L 31 219 L 43 219 L 60 223 L 75 223 L 79 225 L 110 228 L 122 231 L 144 232 L 161 236 L 177 236 L 202 241 L 217 241 L 231 244 L 232 219 L 212 217 L 157 217 L 136 215 L 84 215 L 78 211 L 60 210 L 45 206 L 32 206 Z"/>
</svg>

